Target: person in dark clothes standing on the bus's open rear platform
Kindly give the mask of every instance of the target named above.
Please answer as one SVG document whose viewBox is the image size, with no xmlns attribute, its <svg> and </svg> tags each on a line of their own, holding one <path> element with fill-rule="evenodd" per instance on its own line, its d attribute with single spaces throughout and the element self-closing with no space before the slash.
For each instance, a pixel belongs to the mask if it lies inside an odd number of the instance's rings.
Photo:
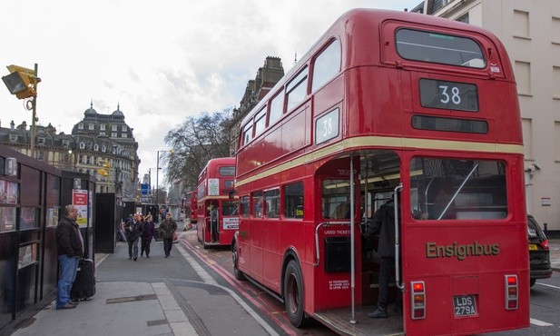
<svg viewBox="0 0 560 336">
<path fill-rule="evenodd" d="M 369 312 L 368 317 L 385 318 L 388 317 L 388 282 L 391 274 L 395 272 L 395 202 L 392 199 L 381 205 L 373 214 L 366 234 L 368 236 L 379 234 L 378 253 L 381 256 L 378 307 Z M 398 302 L 402 304 L 402 301 L 398 300 Z"/>
</svg>

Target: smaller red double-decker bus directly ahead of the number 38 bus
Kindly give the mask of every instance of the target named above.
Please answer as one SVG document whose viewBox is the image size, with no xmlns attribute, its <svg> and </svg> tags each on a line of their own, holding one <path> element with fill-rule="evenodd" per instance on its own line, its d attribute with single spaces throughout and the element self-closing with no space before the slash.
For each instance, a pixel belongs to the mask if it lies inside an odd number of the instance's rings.
<svg viewBox="0 0 560 336">
<path fill-rule="evenodd" d="M 197 190 L 197 237 L 204 248 L 230 245 L 239 227 L 238 200 L 233 192 L 235 158 L 211 159 L 199 174 Z M 211 210 L 215 207 L 217 225 L 211 225 Z M 215 234 L 212 234 L 216 230 Z"/>
</svg>

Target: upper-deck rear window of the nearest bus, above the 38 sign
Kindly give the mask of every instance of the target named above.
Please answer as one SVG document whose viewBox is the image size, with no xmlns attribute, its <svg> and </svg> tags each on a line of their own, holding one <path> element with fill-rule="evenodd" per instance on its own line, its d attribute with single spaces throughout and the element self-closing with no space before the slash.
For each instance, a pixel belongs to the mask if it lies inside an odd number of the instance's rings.
<svg viewBox="0 0 560 336">
<path fill-rule="evenodd" d="M 398 54 L 408 60 L 476 69 L 486 67 L 480 45 L 467 37 L 403 28 L 395 38 Z"/>
</svg>

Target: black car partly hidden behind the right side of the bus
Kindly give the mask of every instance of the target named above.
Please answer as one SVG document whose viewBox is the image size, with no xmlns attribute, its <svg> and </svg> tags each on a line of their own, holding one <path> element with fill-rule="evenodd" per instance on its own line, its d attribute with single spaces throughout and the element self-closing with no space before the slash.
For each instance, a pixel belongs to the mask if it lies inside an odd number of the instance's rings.
<svg viewBox="0 0 560 336">
<path fill-rule="evenodd" d="M 531 264 L 531 287 L 536 279 L 552 276 L 550 268 L 550 247 L 545 232 L 532 215 L 527 215 L 527 233 L 529 235 L 529 262 Z"/>
</svg>

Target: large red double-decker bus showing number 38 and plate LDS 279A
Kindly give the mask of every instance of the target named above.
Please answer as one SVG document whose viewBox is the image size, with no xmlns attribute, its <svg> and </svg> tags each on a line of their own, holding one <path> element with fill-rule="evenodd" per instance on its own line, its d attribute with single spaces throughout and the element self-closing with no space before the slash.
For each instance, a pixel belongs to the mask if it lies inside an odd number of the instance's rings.
<svg viewBox="0 0 560 336">
<path fill-rule="evenodd" d="M 284 301 L 294 325 L 314 318 L 352 335 L 529 325 L 516 82 L 485 29 L 342 15 L 243 120 L 236 158 L 234 273 Z M 367 314 L 383 238 L 364 233 L 388 200 L 395 271 L 379 321 Z"/>
</svg>

